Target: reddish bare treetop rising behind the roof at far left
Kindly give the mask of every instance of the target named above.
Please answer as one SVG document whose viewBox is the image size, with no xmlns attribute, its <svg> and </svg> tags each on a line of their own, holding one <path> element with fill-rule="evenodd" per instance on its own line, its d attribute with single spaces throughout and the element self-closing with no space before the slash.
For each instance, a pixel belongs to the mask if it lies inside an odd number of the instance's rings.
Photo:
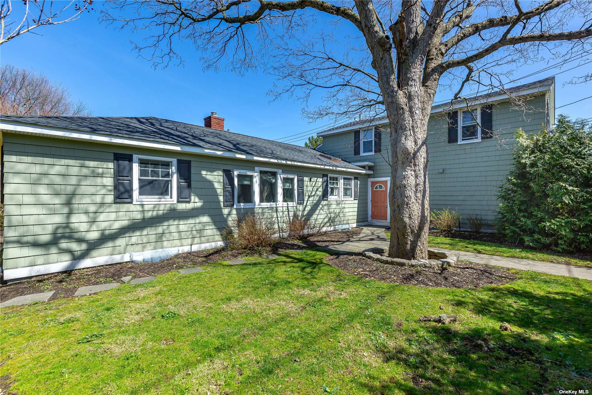
<svg viewBox="0 0 592 395">
<path fill-rule="evenodd" d="M 45 74 L 5 64 L 0 68 L 0 114 L 88 116 L 91 111 Z"/>
</svg>

